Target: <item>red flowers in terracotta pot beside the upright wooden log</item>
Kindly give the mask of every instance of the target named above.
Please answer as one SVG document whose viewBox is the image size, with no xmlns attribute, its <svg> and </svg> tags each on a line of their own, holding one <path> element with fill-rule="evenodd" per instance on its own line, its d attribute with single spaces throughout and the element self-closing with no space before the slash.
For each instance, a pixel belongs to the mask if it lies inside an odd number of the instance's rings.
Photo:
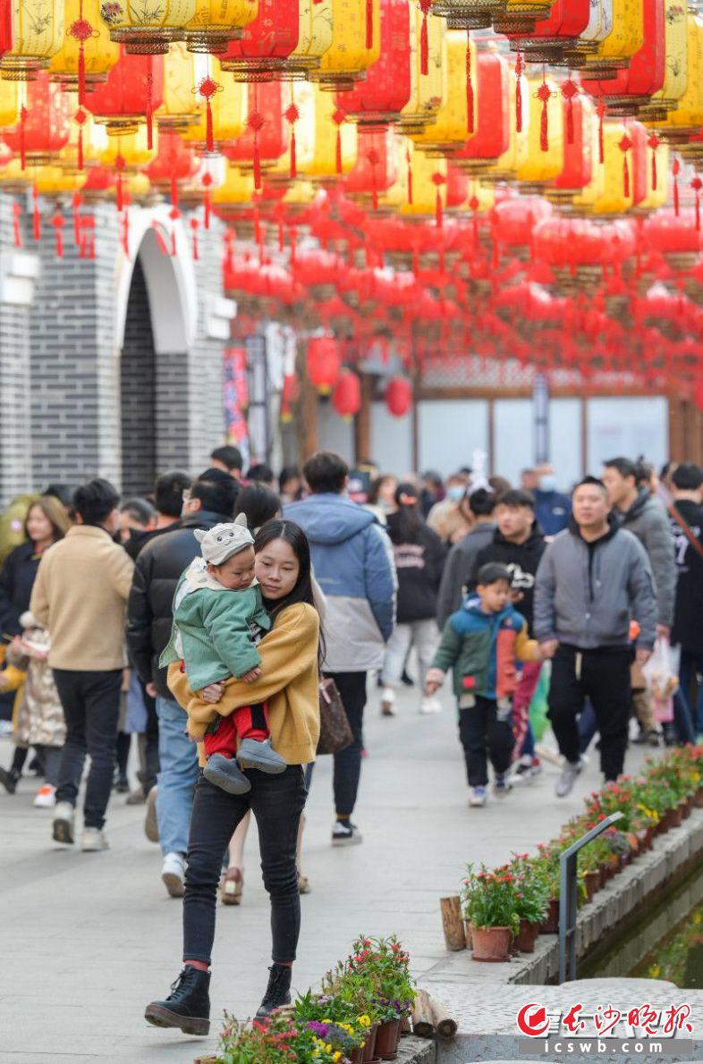
<svg viewBox="0 0 703 1064">
<path fill-rule="evenodd" d="M 485 865 L 473 872 L 468 865 L 463 903 L 471 921 L 474 961 L 507 961 L 510 943 L 520 927 L 515 878 L 506 870 L 489 871 Z"/>
</svg>

